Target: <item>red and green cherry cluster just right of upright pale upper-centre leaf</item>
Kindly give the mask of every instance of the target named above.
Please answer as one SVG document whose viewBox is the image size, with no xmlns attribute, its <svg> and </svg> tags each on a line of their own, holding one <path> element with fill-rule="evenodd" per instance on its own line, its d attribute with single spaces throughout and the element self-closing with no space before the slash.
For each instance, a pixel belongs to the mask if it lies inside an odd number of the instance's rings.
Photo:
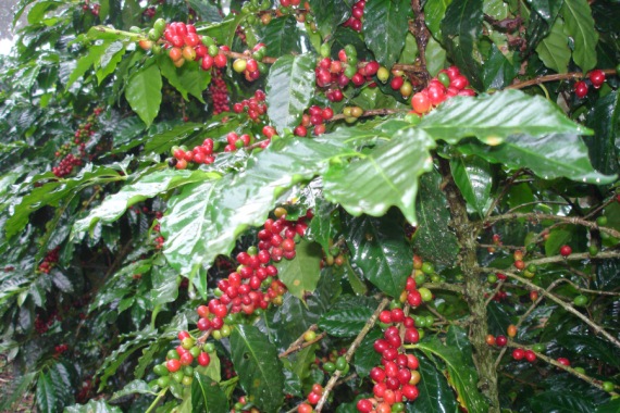
<svg viewBox="0 0 620 413">
<path fill-rule="evenodd" d="M 349 83 L 356 87 L 363 86 L 367 82 L 373 83 L 374 76 L 380 65 L 375 61 L 367 62 L 358 66 L 357 50 L 352 45 L 345 46 L 338 51 L 338 59 L 330 59 L 330 46 L 323 43 L 321 46 L 321 55 L 323 59 L 314 70 L 317 86 L 327 88 L 335 86 L 326 91 L 326 98 L 332 102 L 339 102 L 344 99 L 342 88 Z"/>
</svg>

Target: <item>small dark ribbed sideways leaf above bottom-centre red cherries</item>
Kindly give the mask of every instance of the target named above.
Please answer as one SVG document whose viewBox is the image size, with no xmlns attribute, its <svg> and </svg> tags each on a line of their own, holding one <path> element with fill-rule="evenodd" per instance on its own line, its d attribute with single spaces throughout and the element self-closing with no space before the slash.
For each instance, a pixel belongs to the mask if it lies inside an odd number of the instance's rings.
<svg viewBox="0 0 620 413">
<path fill-rule="evenodd" d="M 319 328 L 335 337 L 355 337 L 374 312 L 376 300 L 365 297 L 342 296 L 330 311 L 321 316 Z"/>
</svg>

